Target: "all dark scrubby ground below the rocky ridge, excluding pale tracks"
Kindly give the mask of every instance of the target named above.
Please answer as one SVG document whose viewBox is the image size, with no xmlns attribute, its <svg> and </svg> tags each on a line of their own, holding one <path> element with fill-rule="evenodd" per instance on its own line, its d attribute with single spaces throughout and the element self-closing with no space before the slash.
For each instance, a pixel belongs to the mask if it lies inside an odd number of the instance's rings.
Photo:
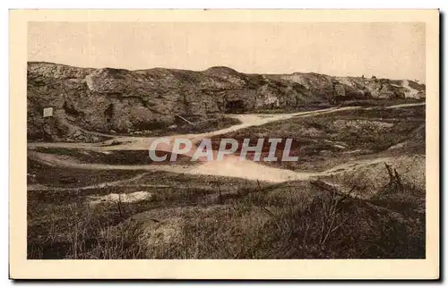
<svg viewBox="0 0 448 288">
<path fill-rule="evenodd" d="M 292 170 L 390 158 L 280 183 L 30 158 L 28 258 L 425 258 L 425 107 L 312 115 L 220 138 L 231 137 L 294 139 L 299 161 L 271 164 Z M 133 165 L 147 153 L 32 152 Z"/>
</svg>

